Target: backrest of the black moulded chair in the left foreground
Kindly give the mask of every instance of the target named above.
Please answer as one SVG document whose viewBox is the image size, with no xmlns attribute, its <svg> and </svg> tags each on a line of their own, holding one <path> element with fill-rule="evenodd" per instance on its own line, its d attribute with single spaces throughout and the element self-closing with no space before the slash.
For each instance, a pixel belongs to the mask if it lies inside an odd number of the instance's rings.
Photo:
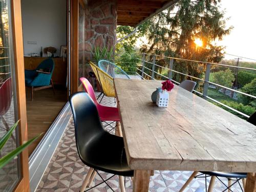
<svg viewBox="0 0 256 192">
<path fill-rule="evenodd" d="M 74 93 L 70 96 L 69 102 L 74 117 L 76 146 L 80 158 L 83 158 L 87 144 L 105 131 L 96 105 L 88 93 Z"/>
</svg>

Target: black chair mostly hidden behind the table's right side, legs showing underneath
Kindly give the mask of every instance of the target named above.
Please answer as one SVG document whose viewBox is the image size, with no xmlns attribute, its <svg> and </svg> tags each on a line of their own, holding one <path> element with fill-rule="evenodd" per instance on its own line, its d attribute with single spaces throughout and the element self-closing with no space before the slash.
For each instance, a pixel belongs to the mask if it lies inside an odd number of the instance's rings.
<svg viewBox="0 0 256 192">
<path fill-rule="evenodd" d="M 256 112 L 254 112 L 248 119 L 247 121 L 253 125 L 256 126 Z M 193 174 L 188 178 L 188 180 L 185 182 L 185 184 L 182 186 L 182 188 L 179 190 L 179 192 L 182 192 L 187 185 L 193 180 L 193 178 L 205 178 L 205 190 L 207 192 L 207 183 L 206 183 L 206 178 L 207 177 L 211 177 L 210 179 L 210 183 L 209 183 L 209 187 L 208 187 L 208 192 L 211 192 L 214 188 L 214 183 L 215 183 L 215 179 L 217 178 L 225 187 L 226 189 L 223 191 L 232 191 L 230 189 L 231 186 L 233 186 L 234 184 L 238 183 L 240 188 L 243 191 L 243 188 L 245 188 L 245 183 L 246 183 L 246 176 L 247 173 L 227 173 L 227 172 L 200 172 L 200 174 L 198 175 L 199 172 L 193 172 Z M 226 185 L 225 183 L 223 183 L 223 181 L 221 181 L 220 177 L 224 177 L 227 178 L 228 180 L 228 185 Z M 242 180 L 243 181 L 243 187 L 241 186 L 241 184 L 239 183 L 239 181 Z M 234 181 L 232 183 L 232 181 Z"/>
</svg>

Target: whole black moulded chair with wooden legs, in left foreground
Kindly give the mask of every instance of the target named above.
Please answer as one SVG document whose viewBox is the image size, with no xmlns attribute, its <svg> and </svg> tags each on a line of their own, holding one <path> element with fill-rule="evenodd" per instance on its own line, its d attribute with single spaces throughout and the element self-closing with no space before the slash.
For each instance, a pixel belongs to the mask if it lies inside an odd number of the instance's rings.
<svg viewBox="0 0 256 192">
<path fill-rule="evenodd" d="M 69 102 L 74 117 L 77 152 L 81 161 L 90 167 L 80 191 L 91 185 L 95 174 L 99 174 L 98 170 L 114 174 L 110 178 L 115 175 L 133 177 L 134 172 L 127 164 L 123 138 L 104 131 L 91 97 L 85 92 L 78 92 L 70 97 Z M 106 181 L 110 178 L 100 178 L 109 186 Z M 120 181 L 120 177 L 119 184 L 124 191 L 124 181 Z"/>
</svg>

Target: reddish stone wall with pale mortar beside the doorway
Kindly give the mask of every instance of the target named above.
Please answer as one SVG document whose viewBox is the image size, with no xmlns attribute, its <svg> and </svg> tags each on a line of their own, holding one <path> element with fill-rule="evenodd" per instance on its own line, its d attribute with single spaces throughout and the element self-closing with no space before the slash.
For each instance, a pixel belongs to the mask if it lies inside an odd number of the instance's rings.
<svg viewBox="0 0 256 192">
<path fill-rule="evenodd" d="M 116 1 L 90 2 L 85 10 L 79 8 L 79 76 L 85 77 L 90 68 L 84 65 L 92 60 L 94 48 L 115 50 L 116 41 Z"/>
</svg>

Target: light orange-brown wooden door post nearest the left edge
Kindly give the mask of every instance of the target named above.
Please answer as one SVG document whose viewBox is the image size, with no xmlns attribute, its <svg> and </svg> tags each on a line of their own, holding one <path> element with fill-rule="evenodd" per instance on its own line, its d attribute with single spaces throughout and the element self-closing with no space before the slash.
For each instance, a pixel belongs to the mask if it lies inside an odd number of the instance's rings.
<svg viewBox="0 0 256 192">
<path fill-rule="evenodd" d="M 17 116 L 18 119 L 20 119 L 18 124 L 19 144 L 22 144 L 28 140 L 28 130 L 22 33 L 22 11 L 20 0 L 11 1 L 11 20 L 16 82 Z M 14 191 L 29 191 L 29 158 L 27 148 L 20 154 L 20 180 L 17 183 Z"/>
</svg>

